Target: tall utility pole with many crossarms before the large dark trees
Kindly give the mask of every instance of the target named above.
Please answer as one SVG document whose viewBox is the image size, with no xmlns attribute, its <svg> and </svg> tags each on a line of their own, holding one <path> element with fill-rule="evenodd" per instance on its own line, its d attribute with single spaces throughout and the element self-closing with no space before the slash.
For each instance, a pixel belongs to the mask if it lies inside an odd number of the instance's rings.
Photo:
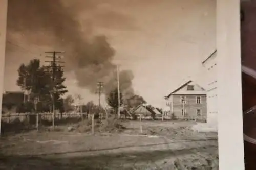
<svg viewBox="0 0 256 170">
<path fill-rule="evenodd" d="M 65 52 L 56 52 L 56 51 L 51 51 L 51 52 L 45 52 L 45 53 L 51 53 L 53 54 L 52 56 L 46 56 L 48 58 L 52 58 L 51 61 L 46 61 L 50 62 L 49 68 L 51 69 L 52 73 L 52 108 L 53 108 L 53 117 L 52 117 L 52 127 L 54 128 L 54 118 L 55 118 L 55 77 L 56 77 L 56 70 L 58 67 L 63 67 L 60 65 L 60 63 L 65 63 L 64 61 L 59 61 L 59 59 L 62 59 L 62 56 L 56 56 L 56 54 L 61 54 Z M 57 65 L 59 64 L 59 65 Z"/>
</svg>

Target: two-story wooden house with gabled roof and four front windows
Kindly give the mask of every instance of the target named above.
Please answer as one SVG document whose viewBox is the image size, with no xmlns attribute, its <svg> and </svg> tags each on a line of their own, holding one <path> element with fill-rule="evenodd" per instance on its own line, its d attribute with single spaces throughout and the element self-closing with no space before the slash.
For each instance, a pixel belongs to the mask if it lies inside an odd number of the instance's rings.
<svg viewBox="0 0 256 170">
<path fill-rule="evenodd" d="M 206 91 L 194 81 L 187 81 L 165 96 L 170 107 L 170 114 L 178 119 L 207 119 Z"/>
</svg>

